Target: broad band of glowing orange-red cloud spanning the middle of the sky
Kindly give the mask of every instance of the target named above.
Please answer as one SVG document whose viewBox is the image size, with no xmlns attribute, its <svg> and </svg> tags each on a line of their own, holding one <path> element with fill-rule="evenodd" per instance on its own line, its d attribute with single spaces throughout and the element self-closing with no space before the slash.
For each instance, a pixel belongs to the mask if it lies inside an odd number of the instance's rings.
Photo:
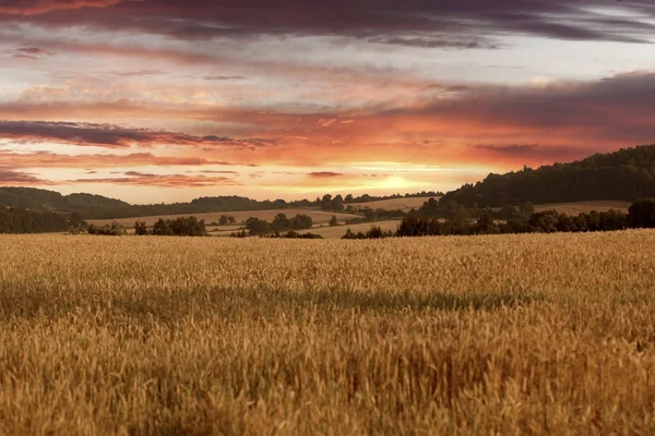
<svg viewBox="0 0 655 436">
<path fill-rule="evenodd" d="M 13 118 L 0 123 L 0 131 L 19 141 L 50 138 L 106 147 L 191 146 L 180 153 L 205 161 L 320 168 L 326 164 L 383 160 L 509 169 L 652 142 L 654 93 L 655 73 L 633 73 L 539 88 L 467 86 L 449 98 L 428 94 L 412 106 L 335 112 L 275 112 L 255 107 L 237 110 L 210 105 L 150 107 L 128 100 L 5 104 L 0 105 L 0 114 Z M 32 117 L 91 118 L 99 111 L 97 117 L 116 119 L 147 116 L 199 120 L 205 131 L 216 125 L 218 133 L 225 123 L 234 123 L 243 136 L 21 121 Z M 330 128 L 322 128 L 325 125 Z"/>
</svg>

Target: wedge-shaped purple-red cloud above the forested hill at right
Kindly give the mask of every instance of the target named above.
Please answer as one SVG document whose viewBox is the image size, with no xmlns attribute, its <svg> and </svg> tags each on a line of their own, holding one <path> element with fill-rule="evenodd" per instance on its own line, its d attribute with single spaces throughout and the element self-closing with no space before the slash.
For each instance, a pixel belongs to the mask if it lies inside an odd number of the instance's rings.
<svg viewBox="0 0 655 436">
<path fill-rule="evenodd" d="M 430 118 L 453 129 L 467 126 L 483 133 L 532 131 L 549 136 L 652 142 L 655 73 L 546 86 L 477 86 L 456 98 L 385 113 L 385 117 L 402 116 Z"/>
</svg>

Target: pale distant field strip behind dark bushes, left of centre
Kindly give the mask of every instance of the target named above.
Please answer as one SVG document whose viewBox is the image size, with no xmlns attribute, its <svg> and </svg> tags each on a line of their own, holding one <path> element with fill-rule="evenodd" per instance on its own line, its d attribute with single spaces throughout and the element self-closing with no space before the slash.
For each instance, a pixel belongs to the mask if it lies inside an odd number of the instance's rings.
<svg viewBox="0 0 655 436">
<path fill-rule="evenodd" d="M 349 214 L 334 214 L 331 211 L 321 211 L 321 210 L 315 210 L 315 209 L 272 209 L 272 210 L 218 211 L 218 213 L 211 213 L 211 214 L 164 215 L 164 216 L 141 217 L 141 218 L 90 219 L 88 223 L 103 226 L 103 225 L 111 223 L 114 221 L 118 221 L 119 223 L 121 223 L 126 227 L 133 227 L 134 221 L 139 220 L 139 221 L 144 221 L 146 223 L 146 226 L 153 226 L 159 218 L 174 219 L 174 218 L 178 218 L 178 217 L 188 217 L 189 215 L 193 215 L 198 219 L 204 219 L 207 225 L 210 222 L 215 222 L 215 221 L 217 222 L 218 218 L 221 218 L 222 215 L 231 215 L 237 219 L 237 222 L 240 223 L 241 221 L 245 221 L 250 217 L 272 221 L 273 218 L 275 218 L 275 216 L 277 214 L 286 214 L 286 216 L 289 218 L 296 216 L 297 214 L 309 215 L 311 217 L 311 219 L 314 221 L 314 223 L 318 223 L 318 225 L 330 222 L 330 219 L 332 218 L 333 215 L 335 215 L 336 219 L 338 219 L 340 221 L 345 221 L 346 219 L 353 218 L 353 215 L 349 215 Z"/>
</svg>

